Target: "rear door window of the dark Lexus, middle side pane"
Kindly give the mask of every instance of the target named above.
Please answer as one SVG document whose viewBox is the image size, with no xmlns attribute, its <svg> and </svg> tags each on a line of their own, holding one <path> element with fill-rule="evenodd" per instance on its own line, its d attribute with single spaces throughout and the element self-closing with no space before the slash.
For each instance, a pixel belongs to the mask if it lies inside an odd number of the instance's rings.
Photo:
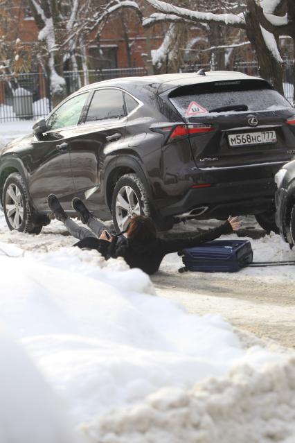
<svg viewBox="0 0 295 443">
<path fill-rule="evenodd" d="M 123 116 L 125 116 L 123 92 L 119 89 L 100 89 L 93 94 L 85 122 L 118 120 Z"/>
</svg>

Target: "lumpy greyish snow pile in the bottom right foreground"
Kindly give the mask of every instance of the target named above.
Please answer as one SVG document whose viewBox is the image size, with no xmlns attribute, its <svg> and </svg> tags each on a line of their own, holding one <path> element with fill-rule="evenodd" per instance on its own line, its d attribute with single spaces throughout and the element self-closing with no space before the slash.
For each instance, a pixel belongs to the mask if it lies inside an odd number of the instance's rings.
<svg viewBox="0 0 295 443">
<path fill-rule="evenodd" d="M 192 390 L 162 388 L 130 408 L 82 426 L 92 443 L 294 442 L 295 359 L 207 379 Z"/>
</svg>

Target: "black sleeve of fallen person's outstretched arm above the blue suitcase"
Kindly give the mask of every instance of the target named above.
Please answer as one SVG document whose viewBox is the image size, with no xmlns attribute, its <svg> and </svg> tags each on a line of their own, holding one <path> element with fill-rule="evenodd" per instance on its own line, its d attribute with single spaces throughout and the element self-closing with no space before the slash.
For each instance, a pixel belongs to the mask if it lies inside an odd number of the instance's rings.
<svg viewBox="0 0 295 443">
<path fill-rule="evenodd" d="M 210 229 L 207 232 L 202 232 L 202 234 L 197 234 L 196 236 L 190 238 L 175 238 L 172 240 L 162 240 L 163 252 L 165 254 L 170 254 L 170 252 L 178 252 L 185 249 L 186 247 L 193 247 L 206 243 L 206 241 L 215 240 L 215 238 L 220 237 L 224 234 L 231 234 L 233 228 L 231 223 L 226 220 L 226 222 L 215 229 Z"/>
</svg>

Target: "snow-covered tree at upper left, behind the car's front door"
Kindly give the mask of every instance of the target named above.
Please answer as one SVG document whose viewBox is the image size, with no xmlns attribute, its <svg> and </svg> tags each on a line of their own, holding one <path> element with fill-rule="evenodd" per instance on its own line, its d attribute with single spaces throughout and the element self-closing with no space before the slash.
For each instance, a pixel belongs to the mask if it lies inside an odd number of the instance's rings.
<svg viewBox="0 0 295 443">
<path fill-rule="evenodd" d="M 39 29 L 39 41 L 44 43 L 45 56 L 40 56 L 48 73 L 53 105 L 65 94 L 63 67 L 71 61 L 73 70 L 87 71 L 86 45 L 90 33 L 101 33 L 107 19 L 114 13 L 132 8 L 140 12 L 136 1 L 112 0 L 28 0 Z"/>
</svg>

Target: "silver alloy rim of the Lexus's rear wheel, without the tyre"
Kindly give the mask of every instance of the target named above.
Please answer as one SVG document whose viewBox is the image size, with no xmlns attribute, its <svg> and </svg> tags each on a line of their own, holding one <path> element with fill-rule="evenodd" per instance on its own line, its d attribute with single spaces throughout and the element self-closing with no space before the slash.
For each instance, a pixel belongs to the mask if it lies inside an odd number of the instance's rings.
<svg viewBox="0 0 295 443">
<path fill-rule="evenodd" d="M 116 197 L 116 220 L 120 231 L 125 231 L 130 218 L 141 214 L 138 197 L 131 186 L 123 186 Z"/>
</svg>

